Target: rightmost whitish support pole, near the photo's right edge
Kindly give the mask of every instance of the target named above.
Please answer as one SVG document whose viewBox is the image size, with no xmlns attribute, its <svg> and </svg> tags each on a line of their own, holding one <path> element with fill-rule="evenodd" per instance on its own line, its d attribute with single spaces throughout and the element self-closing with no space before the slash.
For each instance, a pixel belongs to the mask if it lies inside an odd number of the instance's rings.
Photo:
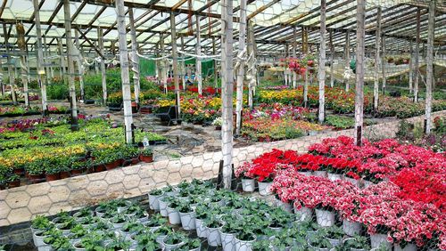
<svg viewBox="0 0 446 251">
<path fill-rule="evenodd" d="M 434 82 L 435 0 L 429 2 L 429 17 L 427 23 L 427 54 L 425 59 L 425 134 L 430 134 L 432 129 L 432 86 Z"/>
</svg>

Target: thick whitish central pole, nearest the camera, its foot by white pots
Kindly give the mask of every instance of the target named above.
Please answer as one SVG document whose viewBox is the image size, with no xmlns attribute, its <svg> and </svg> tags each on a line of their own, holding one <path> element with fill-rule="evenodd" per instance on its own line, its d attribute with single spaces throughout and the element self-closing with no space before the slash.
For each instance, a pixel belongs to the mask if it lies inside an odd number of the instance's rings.
<svg viewBox="0 0 446 251">
<path fill-rule="evenodd" d="M 222 118 L 221 151 L 223 156 L 223 184 L 229 189 L 232 179 L 233 155 L 233 1 L 223 0 L 221 6 L 221 93 Z M 251 41 L 252 42 L 252 41 Z"/>
</svg>

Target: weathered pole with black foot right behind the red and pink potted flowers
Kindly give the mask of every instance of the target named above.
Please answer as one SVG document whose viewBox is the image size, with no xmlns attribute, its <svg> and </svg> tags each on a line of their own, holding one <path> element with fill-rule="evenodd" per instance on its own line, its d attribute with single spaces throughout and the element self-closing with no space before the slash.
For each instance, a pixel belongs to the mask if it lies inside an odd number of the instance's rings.
<svg viewBox="0 0 446 251">
<path fill-rule="evenodd" d="M 365 58 L 365 18 L 366 0 L 357 0 L 356 18 L 356 94 L 355 94 L 355 144 L 362 145 L 362 125 L 364 109 L 364 58 Z"/>
</svg>

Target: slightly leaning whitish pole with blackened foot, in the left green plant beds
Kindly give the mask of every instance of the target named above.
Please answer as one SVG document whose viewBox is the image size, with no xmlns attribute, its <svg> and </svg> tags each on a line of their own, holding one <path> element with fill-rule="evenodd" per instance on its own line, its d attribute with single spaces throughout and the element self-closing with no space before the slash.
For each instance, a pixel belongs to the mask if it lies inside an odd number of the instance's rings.
<svg viewBox="0 0 446 251">
<path fill-rule="evenodd" d="M 76 87 L 74 85 L 74 59 L 77 56 L 74 53 L 73 39 L 71 37 L 71 14 L 70 0 L 63 0 L 63 13 L 65 17 L 65 38 L 67 43 L 67 61 L 68 61 L 68 85 L 70 89 L 71 106 L 71 130 L 78 131 L 78 105 L 76 101 Z"/>
</svg>

